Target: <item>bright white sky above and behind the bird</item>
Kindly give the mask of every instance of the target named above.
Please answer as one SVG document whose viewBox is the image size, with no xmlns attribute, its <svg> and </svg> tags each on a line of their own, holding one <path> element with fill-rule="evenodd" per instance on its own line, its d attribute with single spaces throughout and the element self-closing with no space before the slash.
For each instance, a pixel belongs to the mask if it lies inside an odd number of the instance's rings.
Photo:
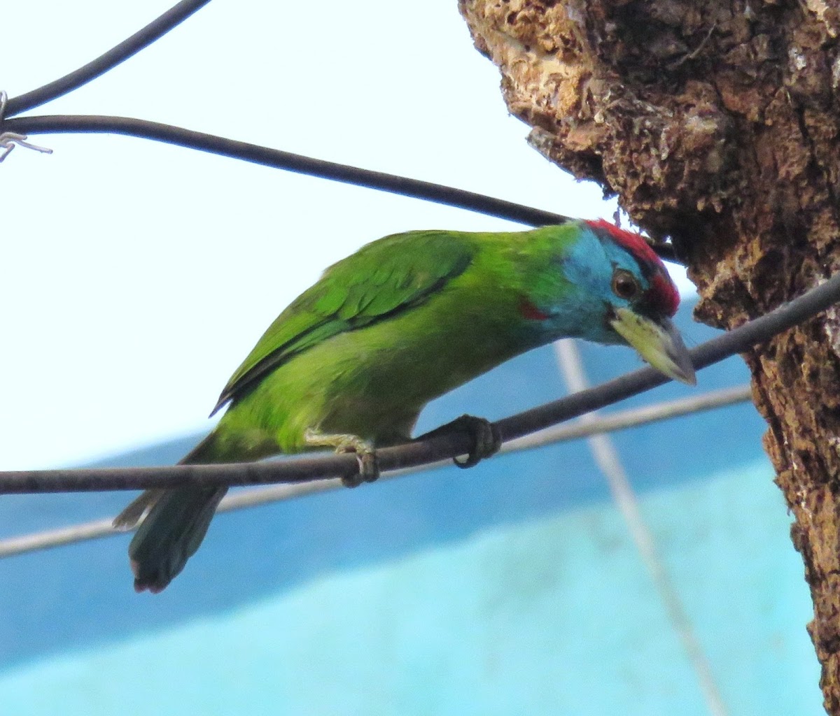
<svg viewBox="0 0 840 716">
<path fill-rule="evenodd" d="M 29 0 L 6 18 L 14 97 L 174 0 Z M 216 0 L 116 70 L 27 114 L 171 123 L 580 217 L 614 202 L 525 143 L 454 0 L 312 12 Z M 480 214 L 108 135 L 38 135 L 0 165 L 0 468 L 76 463 L 207 429 L 275 316 L 361 244 Z M 681 285 L 690 287 L 685 279 Z"/>
</svg>

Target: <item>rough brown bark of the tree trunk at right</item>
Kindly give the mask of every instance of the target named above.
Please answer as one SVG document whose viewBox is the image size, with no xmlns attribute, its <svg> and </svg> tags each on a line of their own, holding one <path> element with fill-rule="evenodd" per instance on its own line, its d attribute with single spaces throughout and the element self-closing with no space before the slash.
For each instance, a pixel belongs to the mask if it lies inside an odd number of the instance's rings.
<svg viewBox="0 0 840 716">
<path fill-rule="evenodd" d="M 840 0 L 459 0 L 531 143 L 667 234 L 731 328 L 840 266 Z M 745 356 L 840 716 L 840 309 Z"/>
</svg>

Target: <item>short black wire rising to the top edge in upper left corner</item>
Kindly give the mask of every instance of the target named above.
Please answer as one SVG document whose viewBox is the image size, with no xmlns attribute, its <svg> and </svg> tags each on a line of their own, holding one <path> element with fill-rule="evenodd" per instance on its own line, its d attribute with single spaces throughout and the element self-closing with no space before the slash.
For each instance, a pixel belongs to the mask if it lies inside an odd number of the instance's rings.
<svg viewBox="0 0 840 716">
<path fill-rule="evenodd" d="M 123 40 L 104 55 L 97 57 L 96 60 L 88 62 L 87 65 L 72 71 L 69 75 L 60 77 L 58 80 L 36 90 L 18 97 L 11 97 L 6 106 L 6 117 L 13 117 L 33 107 L 40 107 L 42 104 L 51 102 L 61 95 L 66 95 L 67 92 L 76 90 L 87 82 L 105 74 L 108 70 L 112 70 L 124 60 L 128 60 L 129 57 L 136 55 L 144 47 L 155 42 L 156 39 L 160 39 L 209 2 L 210 0 L 181 0 L 181 3 L 177 3 L 160 15 L 160 18 L 153 20 L 144 29 L 134 33 L 129 39 Z"/>
</svg>

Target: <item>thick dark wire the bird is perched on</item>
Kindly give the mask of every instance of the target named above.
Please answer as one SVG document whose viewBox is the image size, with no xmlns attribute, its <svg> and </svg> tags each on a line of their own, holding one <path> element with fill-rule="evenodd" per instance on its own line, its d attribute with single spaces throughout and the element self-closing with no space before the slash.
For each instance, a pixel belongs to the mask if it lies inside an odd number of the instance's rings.
<svg viewBox="0 0 840 716">
<path fill-rule="evenodd" d="M 696 369 L 706 368 L 735 353 L 743 353 L 757 343 L 792 328 L 840 301 L 840 274 L 801 295 L 766 316 L 712 338 L 690 351 Z M 612 405 L 668 381 L 653 368 L 642 368 L 588 390 L 581 390 L 533 410 L 496 422 L 504 441 L 512 440 L 556 423 L 570 420 L 591 410 Z M 471 441 L 463 433 L 426 438 L 396 447 L 385 447 L 376 454 L 383 471 L 434 463 L 470 451 Z M 248 485 L 261 483 L 300 483 L 339 477 L 356 471 L 352 455 L 296 457 L 264 463 L 229 465 L 173 465 L 164 468 L 113 468 L 30 470 L 0 473 L 0 494 L 46 492 L 94 492 L 171 488 L 181 485 Z"/>
</svg>

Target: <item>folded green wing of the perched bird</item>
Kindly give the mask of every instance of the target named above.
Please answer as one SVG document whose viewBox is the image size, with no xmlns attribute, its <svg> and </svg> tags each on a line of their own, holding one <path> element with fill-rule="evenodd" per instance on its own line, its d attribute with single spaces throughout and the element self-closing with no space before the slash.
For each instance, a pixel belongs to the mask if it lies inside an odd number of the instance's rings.
<svg viewBox="0 0 840 716">
<path fill-rule="evenodd" d="M 307 348 L 422 303 L 462 274 L 474 251 L 462 234 L 411 232 L 381 238 L 333 264 L 270 325 L 213 413 Z"/>
</svg>

